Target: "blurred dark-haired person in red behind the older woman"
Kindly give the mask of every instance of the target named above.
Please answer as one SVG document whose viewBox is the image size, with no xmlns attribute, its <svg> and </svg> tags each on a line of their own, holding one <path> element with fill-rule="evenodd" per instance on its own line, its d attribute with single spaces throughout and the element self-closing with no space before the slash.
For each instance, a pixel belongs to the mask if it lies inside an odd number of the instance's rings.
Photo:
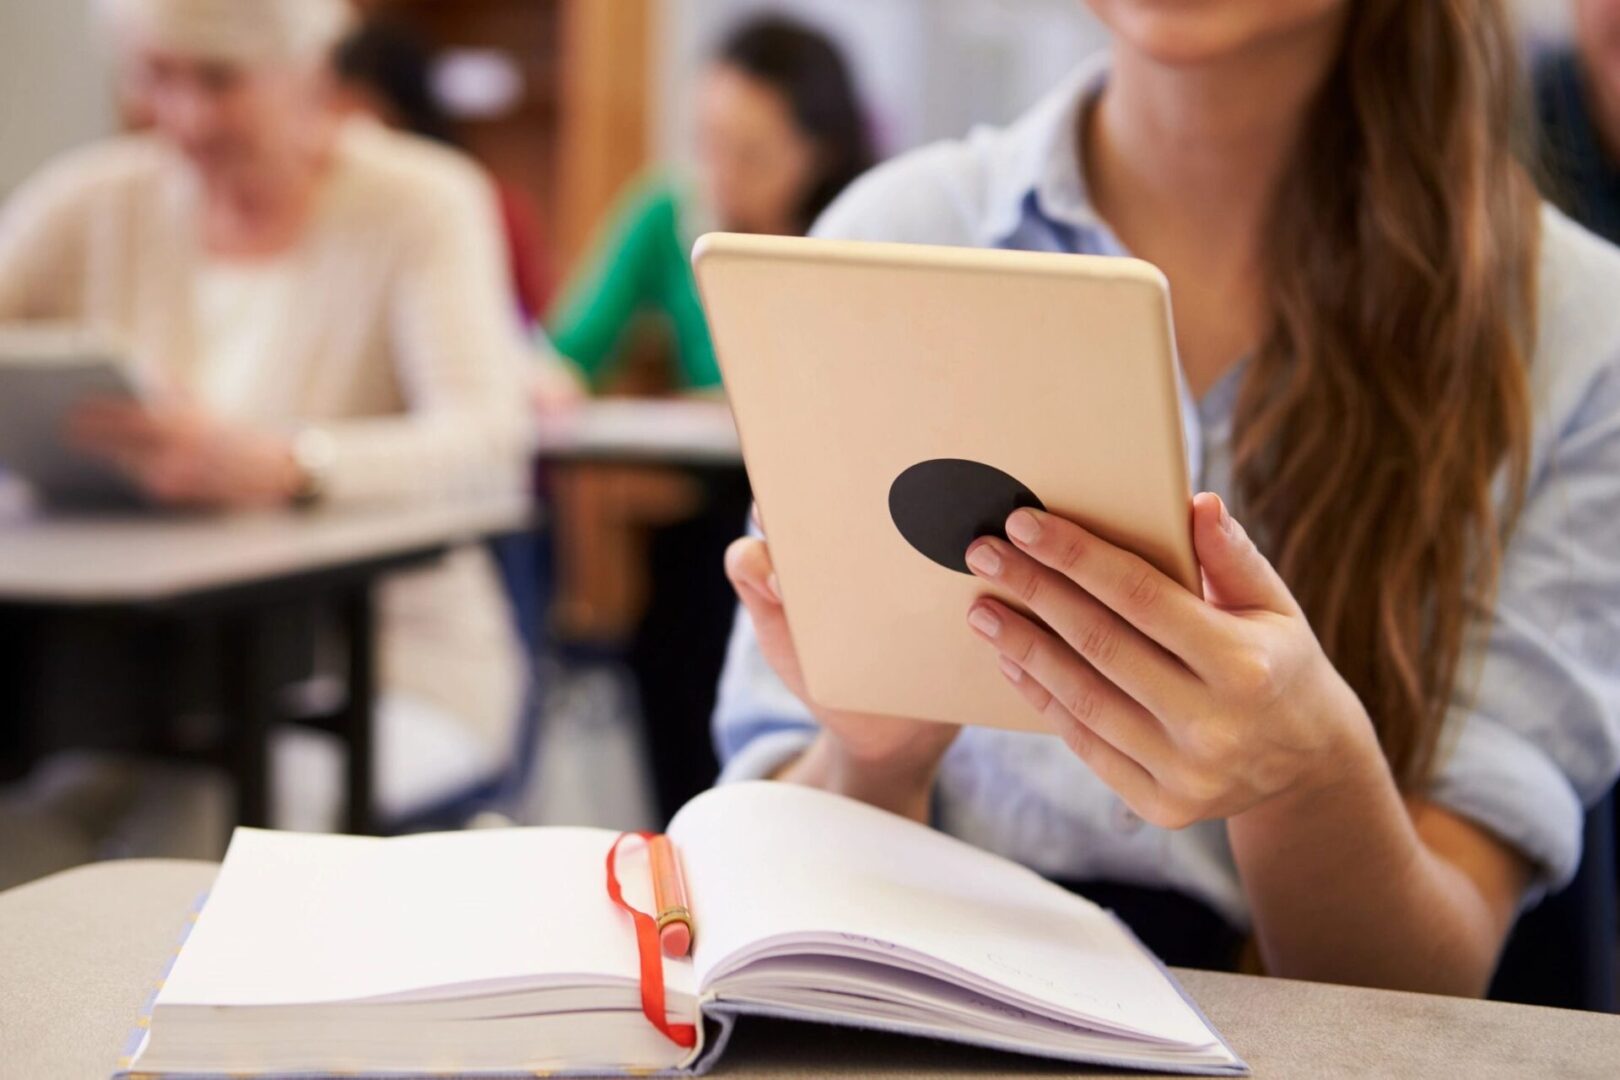
<svg viewBox="0 0 1620 1080">
<path fill-rule="evenodd" d="M 403 26 L 368 18 L 337 49 L 337 97 L 345 112 L 462 149 L 455 121 L 433 87 L 433 52 Z M 512 291 L 528 325 L 539 325 L 551 303 L 551 256 L 528 199 L 494 183 L 505 227 Z"/>
</svg>

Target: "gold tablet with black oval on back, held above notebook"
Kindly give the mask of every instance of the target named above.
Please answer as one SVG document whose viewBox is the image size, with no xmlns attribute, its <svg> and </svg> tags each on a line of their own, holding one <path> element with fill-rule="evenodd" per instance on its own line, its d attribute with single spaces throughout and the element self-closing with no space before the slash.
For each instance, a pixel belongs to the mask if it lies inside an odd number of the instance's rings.
<svg viewBox="0 0 1620 1080">
<path fill-rule="evenodd" d="M 735 235 L 693 262 L 816 704 L 1047 730 L 967 627 L 966 551 L 1021 505 L 1200 589 L 1158 269 Z"/>
</svg>

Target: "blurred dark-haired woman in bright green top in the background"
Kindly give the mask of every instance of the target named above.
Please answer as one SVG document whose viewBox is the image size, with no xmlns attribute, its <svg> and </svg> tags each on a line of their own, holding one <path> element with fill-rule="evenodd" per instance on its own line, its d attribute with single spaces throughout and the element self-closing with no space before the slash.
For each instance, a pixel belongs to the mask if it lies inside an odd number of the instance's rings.
<svg viewBox="0 0 1620 1080">
<path fill-rule="evenodd" d="M 599 387 L 629 327 L 653 314 L 671 330 L 677 387 L 718 389 L 693 241 L 711 228 L 804 235 L 873 160 L 838 47 L 781 16 L 742 24 L 700 84 L 695 181 L 654 175 L 620 199 L 548 321 L 552 345 Z"/>
</svg>

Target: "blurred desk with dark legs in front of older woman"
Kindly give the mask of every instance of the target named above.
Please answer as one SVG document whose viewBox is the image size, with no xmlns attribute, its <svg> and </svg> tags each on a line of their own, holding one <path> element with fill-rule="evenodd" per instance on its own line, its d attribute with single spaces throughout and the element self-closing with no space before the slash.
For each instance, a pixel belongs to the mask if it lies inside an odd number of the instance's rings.
<svg viewBox="0 0 1620 1080">
<path fill-rule="evenodd" d="M 10 644 L 26 648 L 52 620 L 113 625 L 118 635 L 214 620 L 224 643 L 220 706 L 237 819 L 266 824 L 279 687 L 269 682 L 264 657 L 274 612 L 332 604 L 347 659 L 348 693 L 330 717 L 350 751 L 347 826 L 368 832 L 377 583 L 458 544 L 526 529 L 531 520 L 528 499 L 515 495 L 224 517 L 5 518 L 0 636 L 11 633 Z M 15 711 L 26 717 L 31 709 L 21 703 Z M 0 735 L 18 738 L 11 727 L 0 725 Z"/>
</svg>

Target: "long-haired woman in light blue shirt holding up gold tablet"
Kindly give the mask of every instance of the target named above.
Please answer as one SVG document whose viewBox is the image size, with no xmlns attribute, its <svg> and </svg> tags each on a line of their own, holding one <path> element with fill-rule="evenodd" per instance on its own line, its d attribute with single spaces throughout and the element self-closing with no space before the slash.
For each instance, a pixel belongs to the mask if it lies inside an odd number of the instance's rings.
<svg viewBox="0 0 1620 1080">
<path fill-rule="evenodd" d="M 974 544 L 1064 748 L 807 708 L 739 541 L 727 777 L 932 816 L 1173 962 L 1479 994 L 1620 769 L 1620 254 L 1513 155 L 1502 0 L 1092 8 L 1111 57 L 816 233 L 1158 264 L 1205 597 L 1043 513 Z"/>
</svg>

